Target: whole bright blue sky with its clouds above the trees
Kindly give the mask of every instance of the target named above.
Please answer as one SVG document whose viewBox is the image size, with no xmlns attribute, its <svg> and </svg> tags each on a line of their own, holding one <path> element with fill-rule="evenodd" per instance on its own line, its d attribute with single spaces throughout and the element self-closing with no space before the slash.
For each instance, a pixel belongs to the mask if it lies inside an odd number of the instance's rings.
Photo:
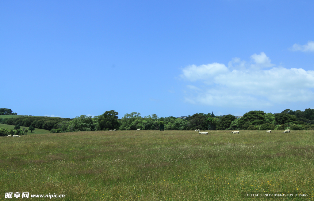
<svg viewBox="0 0 314 201">
<path fill-rule="evenodd" d="M 314 2 L 1 1 L 1 108 L 64 118 L 314 108 Z"/>
</svg>

